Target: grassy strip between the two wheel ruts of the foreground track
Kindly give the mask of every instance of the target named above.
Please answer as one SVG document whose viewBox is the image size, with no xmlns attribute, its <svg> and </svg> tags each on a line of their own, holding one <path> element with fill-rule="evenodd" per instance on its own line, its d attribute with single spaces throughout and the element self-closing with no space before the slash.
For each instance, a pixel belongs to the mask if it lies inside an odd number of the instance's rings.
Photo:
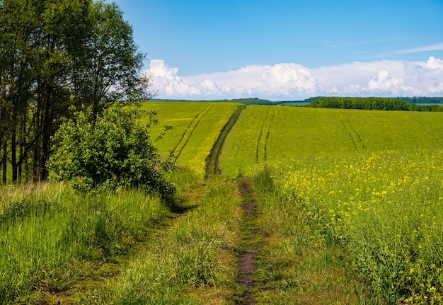
<svg viewBox="0 0 443 305">
<path fill-rule="evenodd" d="M 236 183 L 212 177 L 198 206 L 160 234 L 149 250 L 93 304 L 227 304 L 235 290 L 232 245 L 241 215 Z"/>
</svg>

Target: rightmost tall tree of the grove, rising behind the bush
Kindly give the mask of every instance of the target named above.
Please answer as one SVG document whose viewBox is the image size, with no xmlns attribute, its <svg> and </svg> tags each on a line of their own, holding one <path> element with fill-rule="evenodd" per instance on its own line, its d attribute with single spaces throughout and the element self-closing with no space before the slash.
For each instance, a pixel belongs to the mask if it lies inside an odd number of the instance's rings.
<svg viewBox="0 0 443 305">
<path fill-rule="evenodd" d="M 95 117 L 106 105 L 102 102 L 151 98 L 151 79 L 138 75 L 145 56 L 135 45 L 122 11 L 114 3 L 97 1 L 89 17 L 91 35 L 76 57 L 73 75 L 79 103 L 91 105 Z"/>
</svg>

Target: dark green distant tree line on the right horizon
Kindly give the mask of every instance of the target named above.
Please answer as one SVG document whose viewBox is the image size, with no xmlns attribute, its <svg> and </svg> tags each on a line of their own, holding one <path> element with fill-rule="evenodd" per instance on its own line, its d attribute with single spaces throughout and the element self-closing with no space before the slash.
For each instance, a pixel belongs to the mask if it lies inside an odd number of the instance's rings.
<svg viewBox="0 0 443 305">
<path fill-rule="evenodd" d="M 443 111 L 443 105 L 420 105 L 405 103 L 401 98 L 315 98 L 306 105 L 312 108 L 339 108 L 363 110 L 396 110 L 396 111 Z"/>
</svg>

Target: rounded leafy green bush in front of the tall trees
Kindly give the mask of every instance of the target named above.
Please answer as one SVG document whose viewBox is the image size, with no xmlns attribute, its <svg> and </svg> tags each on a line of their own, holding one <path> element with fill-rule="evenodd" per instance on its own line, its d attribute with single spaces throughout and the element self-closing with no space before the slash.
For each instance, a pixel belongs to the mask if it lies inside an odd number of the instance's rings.
<svg viewBox="0 0 443 305">
<path fill-rule="evenodd" d="M 142 110 L 136 103 L 113 103 L 95 122 L 91 107 L 73 110 L 54 136 L 57 148 L 47 165 L 57 178 L 71 180 L 74 190 L 135 186 L 158 192 L 163 199 L 173 195 L 149 125 L 139 123 Z"/>
</svg>

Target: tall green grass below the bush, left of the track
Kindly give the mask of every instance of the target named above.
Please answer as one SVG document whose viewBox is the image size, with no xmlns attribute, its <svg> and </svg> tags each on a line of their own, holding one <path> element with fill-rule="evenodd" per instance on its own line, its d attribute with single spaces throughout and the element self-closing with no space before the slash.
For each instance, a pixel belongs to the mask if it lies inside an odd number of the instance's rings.
<svg viewBox="0 0 443 305">
<path fill-rule="evenodd" d="M 88 261 L 127 253 L 168 212 L 142 190 L 74 195 L 69 185 L 45 183 L 0 192 L 1 304 L 67 289 Z"/>
</svg>

